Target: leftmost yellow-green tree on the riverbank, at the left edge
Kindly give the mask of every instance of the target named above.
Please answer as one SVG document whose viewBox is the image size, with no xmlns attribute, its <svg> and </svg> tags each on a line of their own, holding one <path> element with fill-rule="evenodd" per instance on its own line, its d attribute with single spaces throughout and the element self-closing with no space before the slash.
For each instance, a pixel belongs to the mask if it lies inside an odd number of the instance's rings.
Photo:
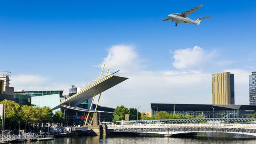
<svg viewBox="0 0 256 144">
<path fill-rule="evenodd" d="M 3 100 L 0 102 L 0 104 L 5 105 L 5 123 L 6 126 L 10 126 L 9 128 L 11 129 L 11 126 L 14 125 L 15 127 L 19 125 L 19 121 L 22 120 L 21 118 L 21 107 L 19 103 L 15 103 L 14 101 L 11 100 Z"/>
</svg>

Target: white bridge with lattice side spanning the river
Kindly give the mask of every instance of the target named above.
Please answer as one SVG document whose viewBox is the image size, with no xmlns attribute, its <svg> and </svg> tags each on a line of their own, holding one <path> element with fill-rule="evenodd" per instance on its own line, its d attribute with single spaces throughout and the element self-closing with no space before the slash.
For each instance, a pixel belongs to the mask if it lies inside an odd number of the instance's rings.
<svg viewBox="0 0 256 144">
<path fill-rule="evenodd" d="M 256 124 L 145 124 L 108 126 L 113 133 L 156 133 L 175 135 L 197 132 L 237 133 L 256 136 Z"/>
</svg>

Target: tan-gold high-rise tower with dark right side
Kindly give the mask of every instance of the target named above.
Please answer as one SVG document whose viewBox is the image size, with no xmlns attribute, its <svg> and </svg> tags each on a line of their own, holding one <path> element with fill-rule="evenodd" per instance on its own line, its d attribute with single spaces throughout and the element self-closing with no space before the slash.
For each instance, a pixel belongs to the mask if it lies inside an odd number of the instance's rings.
<svg viewBox="0 0 256 144">
<path fill-rule="evenodd" d="M 212 104 L 235 104 L 234 95 L 234 74 L 230 72 L 212 74 Z"/>
</svg>

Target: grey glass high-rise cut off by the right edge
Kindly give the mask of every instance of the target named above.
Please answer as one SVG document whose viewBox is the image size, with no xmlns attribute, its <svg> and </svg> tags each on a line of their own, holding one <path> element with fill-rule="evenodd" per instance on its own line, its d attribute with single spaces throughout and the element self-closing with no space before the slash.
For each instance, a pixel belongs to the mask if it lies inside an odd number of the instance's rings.
<svg viewBox="0 0 256 144">
<path fill-rule="evenodd" d="M 256 72 L 249 76 L 249 100 L 250 105 L 256 105 Z"/>
</svg>

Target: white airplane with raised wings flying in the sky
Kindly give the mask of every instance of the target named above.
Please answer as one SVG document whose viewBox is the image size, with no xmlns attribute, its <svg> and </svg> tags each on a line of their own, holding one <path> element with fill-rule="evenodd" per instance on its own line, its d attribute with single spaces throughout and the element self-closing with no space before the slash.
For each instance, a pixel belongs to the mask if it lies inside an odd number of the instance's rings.
<svg viewBox="0 0 256 144">
<path fill-rule="evenodd" d="M 191 13 L 194 13 L 195 11 L 200 9 L 201 7 L 202 7 L 202 5 L 197 6 L 193 9 L 188 10 L 188 11 L 185 11 L 184 13 L 170 14 L 170 15 L 168 15 L 168 18 L 164 19 L 163 21 L 173 20 L 173 21 L 175 21 L 175 26 L 177 26 L 177 24 L 180 23 L 180 22 L 199 25 L 202 19 L 205 19 L 205 18 L 208 18 L 208 17 L 211 17 L 211 16 L 200 17 L 200 18 L 197 18 L 197 20 L 191 20 L 187 16 L 190 15 Z"/>
</svg>

